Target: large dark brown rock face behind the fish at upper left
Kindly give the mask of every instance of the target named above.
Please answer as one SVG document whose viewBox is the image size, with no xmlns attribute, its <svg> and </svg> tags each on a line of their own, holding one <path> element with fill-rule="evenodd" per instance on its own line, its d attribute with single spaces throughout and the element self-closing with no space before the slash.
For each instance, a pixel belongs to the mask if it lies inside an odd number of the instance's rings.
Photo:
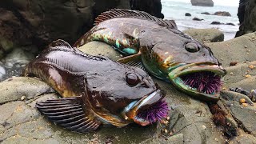
<svg viewBox="0 0 256 144">
<path fill-rule="evenodd" d="M 94 24 L 94 18 L 112 8 L 145 10 L 163 18 L 160 0 L 2 0 L 0 53 L 10 46 L 46 44 L 61 38 L 74 43 Z"/>
</svg>

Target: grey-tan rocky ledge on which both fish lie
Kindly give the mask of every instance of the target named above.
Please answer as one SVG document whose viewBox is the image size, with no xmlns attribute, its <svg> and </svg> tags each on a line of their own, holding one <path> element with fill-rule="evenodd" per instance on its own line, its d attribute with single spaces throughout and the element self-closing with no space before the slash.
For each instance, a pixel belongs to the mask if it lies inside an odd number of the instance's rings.
<svg viewBox="0 0 256 144">
<path fill-rule="evenodd" d="M 58 94 L 38 78 L 14 77 L 0 83 L 0 142 L 2 143 L 255 143 L 256 107 L 243 94 L 229 87 L 255 88 L 256 33 L 226 42 L 207 43 L 226 67 L 224 87 L 218 107 L 226 113 L 223 126 L 214 125 L 213 114 L 205 102 L 190 98 L 154 78 L 166 90 L 170 114 L 162 123 L 136 124 L 123 128 L 101 127 L 88 134 L 78 134 L 55 126 L 36 110 L 35 102 L 57 98 Z M 94 51 L 94 50 L 98 51 Z M 90 42 L 80 48 L 89 54 L 105 55 L 113 60 L 122 55 L 102 42 Z M 230 62 L 237 62 L 230 66 Z M 246 76 L 246 75 L 250 75 Z M 241 98 L 246 104 L 241 104 Z M 217 122 L 218 123 L 218 122 Z"/>
</svg>

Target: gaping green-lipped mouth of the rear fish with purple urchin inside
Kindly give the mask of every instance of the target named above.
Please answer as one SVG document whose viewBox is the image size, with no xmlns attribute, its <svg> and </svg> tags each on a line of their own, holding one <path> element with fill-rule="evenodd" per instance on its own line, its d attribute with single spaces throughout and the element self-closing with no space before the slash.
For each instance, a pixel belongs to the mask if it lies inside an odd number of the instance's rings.
<svg viewBox="0 0 256 144">
<path fill-rule="evenodd" d="M 184 64 L 172 70 L 170 82 L 179 90 L 203 101 L 218 101 L 226 70 L 211 62 Z"/>
</svg>

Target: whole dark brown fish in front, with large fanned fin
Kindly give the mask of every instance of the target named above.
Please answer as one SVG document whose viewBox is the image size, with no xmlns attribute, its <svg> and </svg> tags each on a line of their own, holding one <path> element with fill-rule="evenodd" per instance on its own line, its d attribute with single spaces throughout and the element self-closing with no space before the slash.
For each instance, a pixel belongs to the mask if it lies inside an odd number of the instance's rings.
<svg viewBox="0 0 256 144">
<path fill-rule="evenodd" d="M 146 72 L 108 58 L 83 54 L 67 42 L 52 42 L 30 62 L 25 76 L 42 78 L 64 98 L 38 102 L 50 121 L 78 132 L 98 126 L 126 126 L 137 122 L 146 126 L 160 118 L 142 118 L 143 110 L 164 105 L 164 95 Z M 159 106 L 158 106 L 159 107 Z"/>
</svg>

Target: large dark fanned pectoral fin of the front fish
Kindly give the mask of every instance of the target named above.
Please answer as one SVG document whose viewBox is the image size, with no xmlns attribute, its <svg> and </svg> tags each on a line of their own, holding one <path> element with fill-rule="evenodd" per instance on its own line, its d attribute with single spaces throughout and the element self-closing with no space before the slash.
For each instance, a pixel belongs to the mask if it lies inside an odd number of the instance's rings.
<svg viewBox="0 0 256 144">
<path fill-rule="evenodd" d="M 46 115 L 51 122 L 79 133 L 96 130 L 101 124 L 90 110 L 85 110 L 82 97 L 50 99 L 37 102 L 38 110 Z"/>
</svg>

